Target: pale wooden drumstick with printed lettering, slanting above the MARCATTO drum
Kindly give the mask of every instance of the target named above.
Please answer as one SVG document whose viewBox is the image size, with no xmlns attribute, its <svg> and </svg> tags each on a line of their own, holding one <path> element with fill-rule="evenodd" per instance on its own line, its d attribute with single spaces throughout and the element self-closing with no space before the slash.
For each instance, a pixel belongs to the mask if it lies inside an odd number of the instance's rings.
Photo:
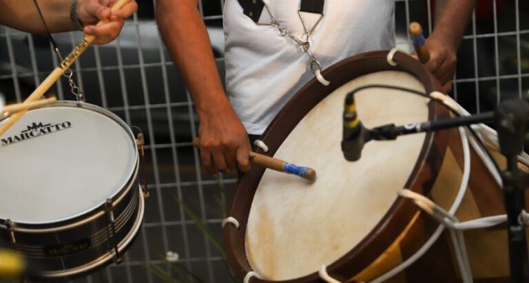
<svg viewBox="0 0 529 283">
<path fill-rule="evenodd" d="M 117 10 L 125 6 L 125 4 L 128 3 L 129 1 L 130 0 L 119 0 L 118 2 L 114 4 L 114 6 L 112 6 L 112 8 L 110 8 L 110 10 L 112 12 L 116 12 Z M 101 20 L 97 23 L 97 25 L 102 25 L 103 23 L 106 23 L 107 21 L 108 21 L 107 19 Z M 59 66 L 56 67 L 55 70 L 53 70 L 53 72 L 49 74 L 48 77 L 46 77 L 44 81 L 42 81 L 42 83 L 32 92 L 32 94 L 28 96 L 28 98 L 25 99 L 24 103 L 39 100 L 39 98 L 41 98 L 41 96 L 44 95 L 44 92 L 48 90 L 50 87 L 52 87 L 52 85 L 63 75 L 65 70 L 67 70 L 68 67 L 70 67 L 70 65 L 74 63 L 74 61 L 79 59 L 79 56 L 81 56 L 81 54 L 85 52 L 85 50 L 88 48 L 88 45 L 94 42 L 95 39 L 96 39 L 96 36 L 86 35 L 81 40 L 81 42 L 79 42 L 75 46 L 74 50 L 72 50 L 72 52 L 70 52 L 70 54 L 68 54 L 68 56 L 66 56 L 65 59 L 61 61 L 61 63 L 59 63 Z M 0 136 L 3 135 L 14 123 L 16 123 L 17 120 L 19 120 L 23 116 L 23 114 L 25 114 L 25 112 L 28 112 L 28 109 L 21 110 L 20 112 L 13 114 L 6 121 L 6 124 L 3 125 L 3 127 L 0 129 Z"/>
</svg>

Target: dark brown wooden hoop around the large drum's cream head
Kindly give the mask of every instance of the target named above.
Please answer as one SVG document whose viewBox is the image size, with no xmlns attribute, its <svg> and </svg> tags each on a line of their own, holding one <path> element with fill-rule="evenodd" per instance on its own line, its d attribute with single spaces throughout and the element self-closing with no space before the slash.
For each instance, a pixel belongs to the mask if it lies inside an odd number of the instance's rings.
<svg viewBox="0 0 529 283">
<path fill-rule="evenodd" d="M 310 111 L 310 109 L 317 105 L 323 98 L 328 94 L 338 89 L 342 86 L 344 82 L 351 81 L 354 78 L 363 76 L 366 74 L 371 74 L 373 72 L 381 72 L 388 70 L 397 70 L 402 72 L 407 72 L 415 76 L 423 85 L 426 93 L 429 94 L 434 91 L 441 91 L 439 83 L 433 78 L 431 74 L 424 68 L 424 66 L 419 63 L 416 59 L 404 54 L 402 52 L 397 52 L 393 57 L 394 61 L 398 63 L 397 66 L 392 66 L 386 61 L 386 56 L 388 51 L 374 51 L 366 52 L 363 54 L 358 54 L 352 56 L 349 59 L 344 59 L 338 63 L 335 63 L 328 69 L 323 72 L 323 75 L 331 81 L 329 87 L 324 87 L 314 78 L 307 83 L 302 89 L 300 89 L 291 100 L 284 105 L 280 110 L 278 115 L 272 120 L 267 130 L 262 135 L 262 140 L 269 146 L 269 153 L 273 155 L 277 149 L 282 144 L 284 138 L 286 138 L 299 123 L 299 121 Z M 353 70 L 354 75 L 348 74 L 347 71 L 357 67 L 357 70 Z M 348 70 L 343 70 L 348 69 Z M 358 70 L 362 69 L 362 70 Z M 342 83 L 341 85 L 333 84 L 334 82 Z M 309 91 L 310 90 L 310 91 Z M 307 105 L 312 105 L 307 111 L 304 107 L 296 104 L 299 101 L 305 101 Z M 303 108 L 303 109 L 300 109 Z M 299 120 L 298 116 L 292 117 L 287 113 L 293 112 L 293 109 L 296 109 L 296 112 L 304 112 L 300 114 Z M 437 103 L 429 103 L 429 114 L 428 118 L 430 120 L 435 120 L 437 118 L 438 110 L 442 109 Z M 287 124 L 287 125 L 285 125 Z M 274 132 L 287 132 L 282 136 L 281 134 L 275 134 Z M 428 157 L 432 155 L 433 148 L 433 137 L 434 134 L 426 134 L 424 138 L 424 143 L 422 145 L 421 153 L 417 159 L 417 163 L 412 171 L 408 182 L 406 182 L 406 187 L 417 189 L 417 179 L 420 176 L 417 176 L 419 172 L 422 172 L 424 167 L 428 166 L 430 161 Z M 260 152 L 260 149 L 257 149 Z M 262 153 L 262 152 L 260 152 Z M 257 185 L 260 182 L 260 178 L 264 173 L 264 169 L 253 167 L 249 172 L 247 172 L 242 178 L 238 180 L 238 185 L 234 191 L 234 195 L 231 198 L 229 207 L 227 209 L 227 216 L 232 216 L 238 220 L 240 223 L 240 228 L 236 229 L 234 225 L 228 224 L 224 229 L 224 238 L 225 238 L 225 247 L 227 250 L 227 258 L 231 267 L 234 269 L 235 273 L 239 277 L 245 277 L 245 275 L 251 271 L 249 262 L 246 258 L 245 251 L 245 235 L 246 235 L 246 226 L 247 220 L 249 217 L 249 211 L 251 209 L 251 202 L 253 196 L 256 192 Z M 369 238 L 373 235 L 378 235 L 382 229 L 392 230 L 392 231 L 402 231 L 406 224 L 404 221 L 400 223 L 395 223 L 390 221 L 392 213 L 399 212 L 400 216 L 405 215 L 406 217 L 413 216 L 419 210 L 412 202 L 404 200 L 402 198 L 397 198 L 393 203 L 392 207 L 386 212 L 386 215 L 382 220 L 375 226 L 375 228 L 364 237 L 364 239 L 357 244 L 356 247 L 353 247 L 351 251 L 342 256 L 342 258 L 333 262 L 333 264 L 327 266 L 327 271 L 331 276 L 336 277 L 338 280 L 350 280 L 351 275 L 355 275 L 358 272 L 362 271 L 368 264 L 363 264 L 358 262 L 358 257 L 362 255 L 365 262 L 373 262 L 378 255 L 385 251 L 386 247 L 393 242 L 393 239 L 382 239 L 380 236 L 377 237 L 377 244 L 370 244 L 373 242 L 373 238 Z M 398 233 L 397 233 L 398 234 Z M 369 247 L 371 250 L 367 251 L 366 249 L 361 250 L 360 248 Z M 351 260 L 355 259 L 355 262 Z M 280 280 L 280 281 L 269 281 L 269 280 L 260 280 L 256 277 L 253 278 L 252 282 L 284 282 L 284 283 L 293 283 L 293 282 L 320 282 L 320 277 L 318 272 L 305 275 L 303 277 L 298 277 L 291 280 Z"/>
</svg>

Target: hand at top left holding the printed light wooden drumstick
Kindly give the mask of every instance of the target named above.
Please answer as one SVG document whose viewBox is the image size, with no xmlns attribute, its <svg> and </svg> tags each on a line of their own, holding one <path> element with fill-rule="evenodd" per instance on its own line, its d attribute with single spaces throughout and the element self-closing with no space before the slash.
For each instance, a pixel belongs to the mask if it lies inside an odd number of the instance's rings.
<svg viewBox="0 0 529 283">
<path fill-rule="evenodd" d="M 85 25 L 83 32 L 96 36 L 94 44 L 105 44 L 118 37 L 125 19 L 138 9 L 135 0 L 130 0 L 121 9 L 112 12 L 110 8 L 118 0 L 78 0 L 77 17 Z M 107 23 L 96 25 L 99 21 L 108 20 Z"/>
</svg>

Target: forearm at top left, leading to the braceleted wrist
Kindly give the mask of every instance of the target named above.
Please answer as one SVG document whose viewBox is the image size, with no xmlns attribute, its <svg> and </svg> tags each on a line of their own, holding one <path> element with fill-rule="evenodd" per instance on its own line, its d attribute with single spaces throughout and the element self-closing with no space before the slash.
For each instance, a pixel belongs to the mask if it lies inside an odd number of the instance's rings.
<svg viewBox="0 0 529 283">
<path fill-rule="evenodd" d="M 38 0 L 50 32 L 79 29 L 70 21 L 71 0 Z M 47 30 L 33 0 L 0 0 L 0 24 L 32 33 Z"/>
</svg>

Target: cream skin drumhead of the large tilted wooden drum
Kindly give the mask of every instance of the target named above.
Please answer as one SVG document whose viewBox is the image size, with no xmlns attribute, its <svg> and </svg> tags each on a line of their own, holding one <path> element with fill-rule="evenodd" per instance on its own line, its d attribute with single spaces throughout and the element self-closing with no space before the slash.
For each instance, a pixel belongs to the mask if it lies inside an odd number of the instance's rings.
<svg viewBox="0 0 529 283">
<path fill-rule="evenodd" d="M 371 141 L 360 160 L 344 160 L 342 111 L 348 92 L 366 84 L 388 84 L 424 91 L 407 73 L 368 74 L 329 94 L 284 140 L 276 158 L 313 167 L 317 180 L 266 170 L 253 198 L 246 234 L 247 258 L 267 280 L 289 280 L 314 273 L 351 251 L 380 222 L 406 184 L 424 134 L 393 141 Z M 355 95 L 366 127 L 428 120 L 426 98 L 373 88 Z"/>
</svg>

